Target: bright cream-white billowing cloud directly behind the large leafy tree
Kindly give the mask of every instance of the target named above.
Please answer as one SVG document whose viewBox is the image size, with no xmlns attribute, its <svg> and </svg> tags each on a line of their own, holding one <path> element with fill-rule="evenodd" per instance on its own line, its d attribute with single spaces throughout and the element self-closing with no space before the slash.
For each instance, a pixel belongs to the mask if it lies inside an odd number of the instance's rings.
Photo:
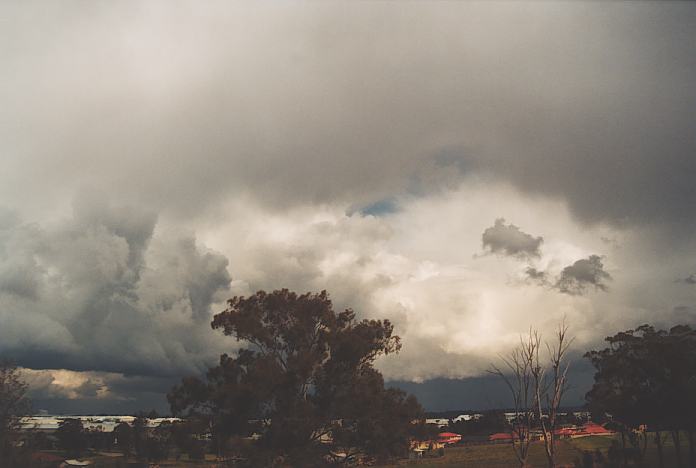
<svg viewBox="0 0 696 468">
<path fill-rule="evenodd" d="M 380 362 L 388 378 L 479 375 L 530 326 L 551 333 L 563 317 L 578 335 L 579 350 L 599 342 L 607 323 L 634 325 L 628 305 L 610 305 L 624 301 L 622 287 L 606 297 L 570 297 L 525 283 L 525 264 L 518 259 L 478 255 L 481 232 L 505 216 L 548 239 L 540 257 L 530 259 L 537 267 L 559 274 L 599 252 L 622 275 L 623 259 L 601 238 L 631 231 L 588 228 L 564 204 L 506 185 L 471 181 L 457 190 L 403 198 L 397 212 L 381 217 L 348 215 L 340 206 L 279 214 L 246 203 L 229 205 L 228 213 L 233 223 L 210 226 L 201 239 L 231 259 L 244 291 L 327 289 L 337 307 L 396 324 L 404 348 Z"/>
</svg>

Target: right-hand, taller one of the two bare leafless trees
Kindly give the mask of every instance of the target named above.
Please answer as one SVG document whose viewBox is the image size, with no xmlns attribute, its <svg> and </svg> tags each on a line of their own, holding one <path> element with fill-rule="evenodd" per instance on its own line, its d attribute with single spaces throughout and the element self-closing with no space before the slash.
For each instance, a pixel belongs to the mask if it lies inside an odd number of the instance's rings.
<svg viewBox="0 0 696 468">
<path fill-rule="evenodd" d="M 550 468 L 556 466 L 556 417 L 558 408 L 561 405 L 563 395 L 568 389 L 568 368 L 570 363 L 566 360 L 566 355 L 573 339 L 569 339 L 567 335 L 568 326 L 565 320 L 563 320 L 558 326 L 553 344 L 546 343 L 546 349 L 549 353 L 548 370 L 540 365 L 538 354 L 535 365 L 532 368 L 536 392 L 536 413 L 544 438 L 546 460 Z"/>
</svg>

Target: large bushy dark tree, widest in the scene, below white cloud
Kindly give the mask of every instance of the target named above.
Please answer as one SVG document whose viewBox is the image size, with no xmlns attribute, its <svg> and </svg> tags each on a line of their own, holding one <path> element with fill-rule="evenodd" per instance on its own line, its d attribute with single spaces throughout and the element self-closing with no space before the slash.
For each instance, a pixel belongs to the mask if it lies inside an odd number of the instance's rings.
<svg viewBox="0 0 696 468">
<path fill-rule="evenodd" d="M 175 414 L 206 418 L 219 447 L 256 434 L 256 464 L 325 464 L 358 455 L 387 459 L 408 449 L 422 409 L 384 387 L 373 367 L 401 343 L 388 320 L 335 312 L 326 291 L 286 289 L 234 297 L 214 329 L 246 346 L 223 354 L 206 379 L 187 377 L 168 395 Z"/>
</svg>

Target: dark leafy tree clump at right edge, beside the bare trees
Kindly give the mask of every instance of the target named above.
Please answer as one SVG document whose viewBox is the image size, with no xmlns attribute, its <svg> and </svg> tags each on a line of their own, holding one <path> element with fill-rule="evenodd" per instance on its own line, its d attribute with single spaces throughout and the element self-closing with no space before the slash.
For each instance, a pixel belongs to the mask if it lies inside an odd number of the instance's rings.
<svg viewBox="0 0 696 468">
<path fill-rule="evenodd" d="M 624 463 L 642 458 L 647 428 L 655 432 L 660 465 L 667 433 L 681 458 L 680 431 L 691 436 L 696 421 L 696 331 L 642 325 L 606 341 L 609 347 L 586 354 L 597 369 L 587 400 L 593 414 L 611 415 L 612 428 L 621 431 L 614 453 L 620 449 Z"/>
</svg>

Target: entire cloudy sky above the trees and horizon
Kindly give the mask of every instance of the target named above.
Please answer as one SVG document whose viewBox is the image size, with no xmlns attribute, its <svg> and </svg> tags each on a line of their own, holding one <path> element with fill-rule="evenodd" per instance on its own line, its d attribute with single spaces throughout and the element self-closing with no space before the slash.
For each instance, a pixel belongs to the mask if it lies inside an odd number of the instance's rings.
<svg viewBox="0 0 696 468">
<path fill-rule="evenodd" d="M 0 355 L 37 409 L 166 412 L 235 295 L 388 318 L 427 409 L 696 318 L 696 5 L 0 2 Z M 502 385 L 502 384 L 500 384 Z"/>
</svg>

